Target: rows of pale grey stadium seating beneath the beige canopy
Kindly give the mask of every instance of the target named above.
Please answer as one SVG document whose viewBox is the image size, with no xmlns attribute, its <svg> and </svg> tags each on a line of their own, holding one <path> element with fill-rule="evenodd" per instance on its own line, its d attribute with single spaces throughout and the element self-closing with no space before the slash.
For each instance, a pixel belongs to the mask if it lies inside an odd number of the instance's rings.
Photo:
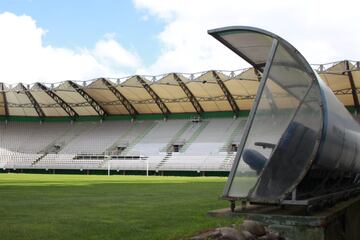
<svg viewBox="0 0 360 240">
<path fill-rule="evenodd" d="M 228 171 L 224 139 L 243 121 L 2 123 L 2 168 Z M 173 152 L 180 143 L 188 147 Z"/>
</svg>

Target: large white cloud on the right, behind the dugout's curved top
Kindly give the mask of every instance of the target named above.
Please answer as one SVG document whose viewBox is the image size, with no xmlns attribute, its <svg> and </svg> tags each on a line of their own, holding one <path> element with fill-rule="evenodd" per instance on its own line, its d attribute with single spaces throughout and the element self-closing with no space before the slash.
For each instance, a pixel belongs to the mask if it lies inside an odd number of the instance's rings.
<svg viewBox="0 0 360 240">
<path fill-rule="evenodd" d="M 141 73 L 246 66 L 207 34 L 208 29 L 231 25 L 272 31 L 293 44 L 311 63 L 359 59 L 360 3 L 356 0 L 341 5 L 328 0 L 134 0 L 134 4 L 145 15 L 165 23 L 158 35 L 162 52 L 153 64 L 140 69 Z"/>
</svg>

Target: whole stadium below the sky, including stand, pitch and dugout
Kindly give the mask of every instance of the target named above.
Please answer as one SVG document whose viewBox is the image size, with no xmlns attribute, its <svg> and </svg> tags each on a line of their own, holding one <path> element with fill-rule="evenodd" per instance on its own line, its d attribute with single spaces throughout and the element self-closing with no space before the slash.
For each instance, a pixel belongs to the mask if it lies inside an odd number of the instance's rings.
<svg viewBox="0 0 360 240">
<path fill-rule="evenodd" d="M 360 62 L 208 33 L 253 68 L 2 83 L 1 237 L 358 239 Z"/>
</svg>

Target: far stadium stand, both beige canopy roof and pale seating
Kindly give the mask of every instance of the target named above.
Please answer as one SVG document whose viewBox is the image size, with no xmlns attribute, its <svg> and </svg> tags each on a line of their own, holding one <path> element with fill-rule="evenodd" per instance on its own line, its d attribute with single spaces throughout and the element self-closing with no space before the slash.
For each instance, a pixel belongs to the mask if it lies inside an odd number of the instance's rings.
<svg viewBox="0 0 360 240">
<path fill-rule="evenodd" d="M 357 115 L 359 62 L 314 67 Z M 0 168 L 227 172 L 258 80 L 248 68 L 14 87 L 0 83 Z M 261 134 L 271 142 L 276 133 Z"/>
</svg>

